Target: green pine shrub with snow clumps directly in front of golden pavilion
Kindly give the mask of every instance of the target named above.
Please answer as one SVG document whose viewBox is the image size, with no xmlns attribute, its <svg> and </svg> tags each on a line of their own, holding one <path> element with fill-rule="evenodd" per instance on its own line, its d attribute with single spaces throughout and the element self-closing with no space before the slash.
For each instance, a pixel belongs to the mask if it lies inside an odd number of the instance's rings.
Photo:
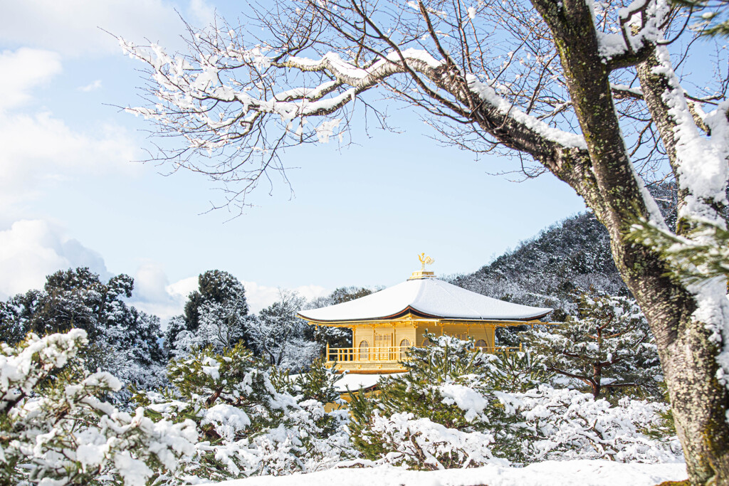
<svg viewBox="0 0 729 486">
<path fill-rule="evenodd" d="M 526 353 L 493 355 L 455 337 L 427 337 L 433 345 L 409 350 L 409 372 L 382 380 L 381 395 L 353 396 L 355 447 L 368 460 L 411 469 L 509 457 L 520 419 L 499 394 L 533 388 L 544 365 Z"/>
</svg>

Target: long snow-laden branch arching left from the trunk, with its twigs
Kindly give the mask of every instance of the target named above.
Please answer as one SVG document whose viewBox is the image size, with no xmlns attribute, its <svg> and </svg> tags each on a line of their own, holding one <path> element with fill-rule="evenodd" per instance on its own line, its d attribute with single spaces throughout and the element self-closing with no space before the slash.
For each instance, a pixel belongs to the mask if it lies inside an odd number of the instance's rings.
<svg viewBox="0 0 729 486">
<path fill-rule="evenodd" d="M 345 110 L 359 95 L 380 85 L 404 93 L 388 82 L 393 76 L 414 81 L 453 112 L 439 111 L 441 116 L 460 117 L 482 128 L 514 125 L 518 136 L 508 130 L 492 135 L 537 158 L 557 152 L 566 157 L 586 148 L 581 135 L 550 128 L 448 59 L 438 60 L 424 49 L 391 44 L 385 52 L 370 52 L 370 60 L 345 58 L 343 52 L 311 59 L 261 44 L 246 47 L 235 33 L 227 39 L 219 31 L 192 34 L 189 55 L 170 55 L 156 44 L 119 41 L 127 55 L 147 64 L 151 81 L 147 106 L 127 111 L 152 119 L 160 135 L 186 142 L 172 151 L 161 147 L 163 157 L 156 158 L 171 160 L 174 170 L 188 168 L 225 183 L 243 182 L 242 189 L 229 191 L 229 203 L 244 198 L 264 174 L 283 173 L 278 155 L 286 148 L 326 143 L 332 136 L 343 141 Z"/>
</svg>

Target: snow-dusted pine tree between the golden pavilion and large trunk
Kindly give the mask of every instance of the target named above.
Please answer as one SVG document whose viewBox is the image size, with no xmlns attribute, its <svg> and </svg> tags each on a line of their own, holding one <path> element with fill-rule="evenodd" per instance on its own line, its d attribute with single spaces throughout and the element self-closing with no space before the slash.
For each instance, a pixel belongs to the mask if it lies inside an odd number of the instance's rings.
<svg viewBox="0 0 729 486">
<path fill-rule="evenodd" d="M 588 387 L 595 398 L 617 391 L 662 399 L 660 361 L 648 323 L 630 297 L 576 292 L 565 324 L 523 334 L 550 371 Z"/>
</svg>

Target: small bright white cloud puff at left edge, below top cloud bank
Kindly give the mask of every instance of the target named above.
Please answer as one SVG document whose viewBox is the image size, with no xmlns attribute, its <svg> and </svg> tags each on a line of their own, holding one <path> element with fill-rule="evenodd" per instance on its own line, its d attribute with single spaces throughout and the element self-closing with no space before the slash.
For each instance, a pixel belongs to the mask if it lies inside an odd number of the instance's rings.
<svg viewBox="0 0 729 486">
<path fill-rule="evenodd" d="M 1 52 L 0 111 L 28 103 L 34 88 L 60 72 L 61 56 L 55 52 L 27 47 Z"/>
</svg>

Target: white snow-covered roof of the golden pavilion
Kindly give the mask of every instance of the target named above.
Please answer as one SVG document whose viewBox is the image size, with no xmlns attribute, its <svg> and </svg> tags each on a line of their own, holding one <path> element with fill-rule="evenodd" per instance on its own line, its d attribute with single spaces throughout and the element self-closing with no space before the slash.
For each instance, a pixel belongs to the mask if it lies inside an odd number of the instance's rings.
<svg viewBox="0 0 729 486">
<path fill-rule="evenodd" d="M 389 289 L 329 307 L 300 310 L 308 321 L 373 321 L 412 313 L 419 317 L 476 321 L 531 321 L 550 313 L 461 289 L 437 278 L 408 280 Z"/>
</svg>

